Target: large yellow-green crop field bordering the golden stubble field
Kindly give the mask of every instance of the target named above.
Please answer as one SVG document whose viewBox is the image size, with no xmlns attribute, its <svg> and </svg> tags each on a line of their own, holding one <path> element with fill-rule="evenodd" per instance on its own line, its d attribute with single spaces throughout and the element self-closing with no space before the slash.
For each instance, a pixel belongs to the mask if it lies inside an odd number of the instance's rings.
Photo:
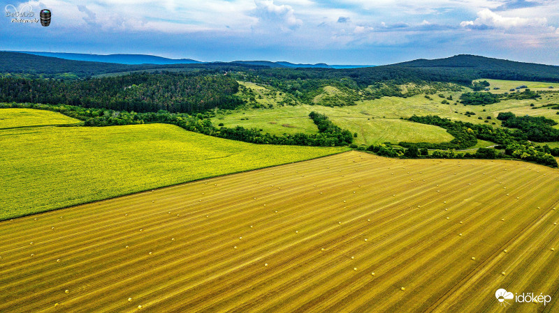
<svg viewBox="0 0 559 313">
<path fill-rule="evenodd" d="M 165 124 L 1 130 L 0 220 L 343 150 L 247 144 Z"/>
</svg>

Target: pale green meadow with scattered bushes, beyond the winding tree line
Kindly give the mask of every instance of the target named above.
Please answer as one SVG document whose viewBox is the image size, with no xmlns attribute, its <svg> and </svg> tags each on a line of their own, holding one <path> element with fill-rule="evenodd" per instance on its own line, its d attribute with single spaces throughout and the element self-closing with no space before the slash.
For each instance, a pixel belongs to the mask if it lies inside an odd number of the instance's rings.
<svg viewBox="0 0 559 313">
<path fill-rule="evenodd" d="M 488 79 L 495 86 L 547 86 L 544 82 L 516 82 L 498 81 Z M 454 121 L 464 121 L 470 123 L 488 123 L 493 127 L 500 127 L 500 121 L 496 119 L 500 112 L 513 112 L 517 115 L 545 116 L 559 122 L 559 112 L 549 107 L 532 109 L 530 104 L 535 107 L 542 107 L 551 103 L 559 103 L 559 84 L 557 89 L 540 88 L 541 90 L 558 91 L 557 93 L 546 93 L 539 99 L 528 100 L 502 100 L 493 105 L 486 106 L 464 106 L 460 103 L 454 105 L 460 99 L 460 92 L 441 91 L 445 98 L 452 96 L 453 100 L 448 100 L 451 105 L 442 104 L 443 98 L 435 95 L 424 94 L 400 98 L 384 97 L 375 100 L 363 100 L 356 102 L 356 105 L 343 107 L 327 107 L 323 105 L 294 105 L 284 106 L 278 102 L 283 100 L 279 92 L 267 86 L 256 85 L 247 82 L 240 82 L 243 86 L 249 87 L 258 96 L 256 102 L 271 108 L 242 108 L 233 111 L 217 112 L 217 116 L 212 119 L 214 125 L 223 123 L 226 127 L 240 125 L 245 128 L 257 128 L 263 132 L 281 135 L 283 133 L 304 132 L 311 134 L 317 132 L 316 126 L 308 118 L 312 111 L 326 114 L 328 118 L 341 128 L 357 133 L 356 144 L 375 144 L 379 142 L 398 143 L 405 142 L 447 142 L 453 137 L 442 128 L 419 123 L 409 123 L 400 120 L 400 117 L 416 115 L 438 115 Z M 508 90 L 508 89 L 507 89 Z M 315 100 L 320 100 L 324 95 L 335 96 L 340 93 L 331 86 L 324 87 Z M 315 101 L 316 102 L 316 101 Z M 467 116 L 466 112 L 474 112 L 475 115 Z M 479 119 L 481 117 L 481 119 Z M 489 118 L 489 119 L 488 119 Z M 558 126 L 559 127 L 559 126 Z"/>
</svg>

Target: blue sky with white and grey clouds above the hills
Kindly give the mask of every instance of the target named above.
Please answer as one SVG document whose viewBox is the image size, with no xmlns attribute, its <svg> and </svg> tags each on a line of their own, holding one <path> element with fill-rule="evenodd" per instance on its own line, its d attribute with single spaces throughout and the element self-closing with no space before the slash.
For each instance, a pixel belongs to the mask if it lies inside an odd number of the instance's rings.
<svg viewBox="0 0 559 313">
<path fill-rule="evenodd" d="M 49 8 L 52 22 L 3 15 L 1 50 L 370 65 L 478 54 L 559 65 L 559 0 L 10 1 L 8 12 Z"/>
</svg>

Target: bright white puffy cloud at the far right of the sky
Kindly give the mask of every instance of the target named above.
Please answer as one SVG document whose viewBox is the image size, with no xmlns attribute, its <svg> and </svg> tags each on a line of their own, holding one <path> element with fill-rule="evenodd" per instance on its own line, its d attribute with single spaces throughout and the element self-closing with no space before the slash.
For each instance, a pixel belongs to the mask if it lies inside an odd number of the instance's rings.
<svg viewBox="0 0 559 313">
<path fill-rule="evenodd" d="M 491 26 L 497 28 L 511 28 L 521 26 L 545 26 L 547 19 L 545 17 L 504 17 L 489 9 L 481 10 L 477 13 L 477 19 L 473 21 L 464 21 L 460 26 Z"/>
</svg>

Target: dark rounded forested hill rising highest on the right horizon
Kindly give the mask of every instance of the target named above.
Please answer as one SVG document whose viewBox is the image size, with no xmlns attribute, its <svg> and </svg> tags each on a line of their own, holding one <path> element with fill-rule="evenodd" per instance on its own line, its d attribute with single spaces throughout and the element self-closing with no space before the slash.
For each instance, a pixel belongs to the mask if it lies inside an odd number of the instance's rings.
<svg viewBox="0 0 559 313">
<path fill-rule="evenodd" d="M 418 59 L 391 66 L 441 72 L 465 72 L 478 78 L 559 82 L 559 66 L 493 59 L 470 54 L 460 54 L 445 59 Z"/>
</svg>

